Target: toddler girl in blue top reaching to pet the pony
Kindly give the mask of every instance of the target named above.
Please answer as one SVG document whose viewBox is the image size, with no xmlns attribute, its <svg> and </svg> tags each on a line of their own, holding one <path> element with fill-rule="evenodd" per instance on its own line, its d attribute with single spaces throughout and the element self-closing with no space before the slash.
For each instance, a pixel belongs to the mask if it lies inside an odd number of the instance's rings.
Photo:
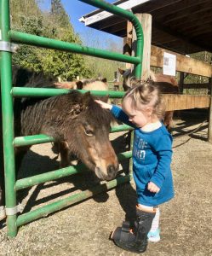
<svg viewBox="0 0 212 256">
<path fill-rule="evenodd" d="M 139 82 L 140 83 L 140 82 Z M 125 250 L 143 253 L 147 241 L 159 241 L 158 205 L 174 197 L 170 163 L 172 137 L 160 121 L 163 104 L 158 88 L 151 81 L 129 90 L 123 97 L 123 109 L 96 101 L 110 109 L 115 118 L 135 127 L 133 174 L 138 204 L 133 229 L 123 222 L 112 232 L 112 240 Z"/>
</svg>

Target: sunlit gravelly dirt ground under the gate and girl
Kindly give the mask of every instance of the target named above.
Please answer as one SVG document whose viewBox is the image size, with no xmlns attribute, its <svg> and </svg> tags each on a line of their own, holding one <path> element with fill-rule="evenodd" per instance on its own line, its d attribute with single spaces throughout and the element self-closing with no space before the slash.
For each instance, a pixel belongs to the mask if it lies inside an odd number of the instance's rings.
<svg viewBox="0 0 212 256">
<path fill-rule="evenodd" d="M 175 198 L 161 206 L 161 241 L 149 243 L 145 256 L 212 255 L 212 144 L 207 142 L 207 124 L 190 136 L 202 119 L 175 120 L 172 170 Z M 119 136 L 119 137 L 117 137 Z M 116 150 L 124 149 L 125 136 L 112 137 Z M 26 155 L 20 177 L 49 172 L 58 160 L 50 144 L 33 146 Z M 123 150 L 124 151 L 124 150 Z M 123 168 L 126 165 L 123 164 Z M 21 191 L 19 198 L 28 212 L 71 193 L 89 189 L 96 183 L 91 173 L 34 186 Z M 6 236 L 0 224 L 0 255 L 134 255 L 109 240 L 113 229 L 125 216 L 135 214 L 135 184 L 126 183 L 109 192 L 21 226 L 18 236 Z"/>
</svg>

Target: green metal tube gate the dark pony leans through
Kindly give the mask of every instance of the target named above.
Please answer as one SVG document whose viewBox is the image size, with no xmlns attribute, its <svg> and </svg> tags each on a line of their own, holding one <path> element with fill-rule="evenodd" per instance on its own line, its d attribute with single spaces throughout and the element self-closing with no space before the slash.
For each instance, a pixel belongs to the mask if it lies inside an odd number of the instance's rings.
<svg viewBox="0 0 212 256">
<path fill-rule="evenodd" d="M 92 195 L 98 194 L 107 189 L 112 189 L 117 184 L 129 182 L 130 174 L 104 184 L 98 185 L 92 189 L 80 192 L 77 195 L 72 195 L 66 199 L 56 201 L 48 206 L 40 207 L 37 210 L 26 212 L 17 216 L 17 203 L 16 191 L 25 189 L 33 185 L 51 181 L 60 177 L 66 177 L 77 172 L 82 172 L 83 165 L 76 167 L 66 167 L 56 170 L 54 172 L 46 172 L 34 177 L 15 179 L 15 166 L 14 166 L 14 148 L 24 145 L 33 145 L 38 143 L 53 142 L 53 137 L 48 137 L 43 134 L 27 137 L 14 137 L 14 110 L 13 110 L 13 97 L 15 96 L 56 96 L 62 93 L 67 93 L 69 90 L 60 89 L 37 89 L 37 88 L 21 88 L 12 86 L 12 52 L 13 43 L 30 44 L 37 47 L 48 49 L 60 49 L 67 52 L 74 52 L 83 55 L 93 55 L 100 58 L 109 60 L 123 61 L 135 64 L 135 77 L 140 78 L 142 67 L 142 54 L 143 54 L 143 32 L 139 20 L 129 11 L 123 10 L 110 3 L 103 2 L 102 0 L 79 0 L 84 3 L 89 3 L 97 8 L 105 9 L 106 11 L 120 15 L 126 20 L 130 20 L 135 26 L 137 35 L 137 49 L 134 57 L 122 55 L 106 50 L 94 49 L 83 47 L 77 44 L 61 42 L 59 40 L 49 39 L 17 32 L 10 29 L 9 22 L 9 0 L 0 0 L 0 67 L 1 67 L 1 91 L 2 91 L 2 114 L 3 114 L 3 162 L 4 162 L 4 177 L 5 177 L 5 197 L 6 197 L 6 214 L 7 214 L 7 227 L 8 236 L 16 236 L 17 229 L 20 225 L 26 224 L 34 219 L 46 216 L 51 212 L 58 211 L 64 207 L 70 206 L 77 201 L 82 201 Z M 85 92 L 85 91 L 82 91 Z M 118 91 L 92 91 L 93 95 L 104 96 L 109 95 L 112 98 L 121 98 L 123 92 Z M 130 127 L 127 125 L 119 125 L 112 129 L 112 132 L 126 131 Z M 131 158 L 132 152 L 124 152 L 118 154 L 118 160 Z"/>
</svg>

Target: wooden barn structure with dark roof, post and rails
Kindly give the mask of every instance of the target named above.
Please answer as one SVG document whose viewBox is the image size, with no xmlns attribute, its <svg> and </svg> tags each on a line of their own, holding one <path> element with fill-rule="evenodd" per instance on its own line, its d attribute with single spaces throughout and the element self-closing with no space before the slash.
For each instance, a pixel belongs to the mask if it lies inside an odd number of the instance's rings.
<svg viewBox="0 0 212 256">
<path fill-rule="evenodd" d="M 163 95 L 167 110 L 209 108 L 211 106 L 212 66 L 190 58 L 199 51 L 212 52 L 211 0 L 119 0 L 114 5 L 131 10 L 140 20 L 144 32 L 142 79 L 149 77 L 150 67 L 163 67 L 164 52 L 176 56 L 182 92 L 185 73 L 209 78 L 209 96 Z M 123 53 L 133 55 L 136 36 L 132 24 L 102 9 L 79 19 L 85 26 L 123 38 Z M 127 64 L 129 67 L 129 64 Z M 189 86 L 186 84 L 186 86 Z M 212 143 L 212 108 L 209 112 L 209 142 Z"/>
</svg>

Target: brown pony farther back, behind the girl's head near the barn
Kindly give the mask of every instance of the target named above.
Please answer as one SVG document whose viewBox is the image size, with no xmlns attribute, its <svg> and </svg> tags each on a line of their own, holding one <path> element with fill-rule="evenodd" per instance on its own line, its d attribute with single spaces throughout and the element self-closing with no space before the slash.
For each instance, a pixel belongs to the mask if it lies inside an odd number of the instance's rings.
<svg viewBox="0 0 212 256">
<path fill-rule="evenodd" d="M 133 86 L 135 80 L 131 70 L 118 68 L 118 71 L 123 75 L 123 90 L 129 90 Z M 174 77 L 163 75 L 161 73 L 153 73 L 151 70 L 150 79 L 154 82 L 155 86 L 158 86 L 161 93 L 179 93 L 179 87 Z M 166 111 L 163 118 L 163 123 L 168 130 L 170 130 L 173 125 L 173 114 L 174 111 Z"/>
</svg>

